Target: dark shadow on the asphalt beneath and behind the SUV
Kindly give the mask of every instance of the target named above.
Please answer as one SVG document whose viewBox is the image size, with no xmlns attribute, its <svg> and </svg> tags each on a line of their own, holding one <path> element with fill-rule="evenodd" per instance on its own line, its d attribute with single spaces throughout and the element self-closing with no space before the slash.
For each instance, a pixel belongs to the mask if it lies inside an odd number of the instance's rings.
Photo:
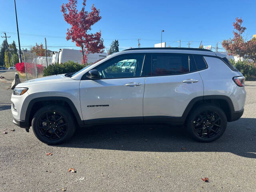
<svg viewBox="0 0 256 192">
<path fill-rule="evenodd" d="M 78 128 L 59 147 L 149 152 L 230 152 L 256 158 L 256 118 L 228 123 L 224 135 L 212 143 L 200 143 L 186 135 L 184 127 L 160 124 L 102 125 Z"/>
</svg>

